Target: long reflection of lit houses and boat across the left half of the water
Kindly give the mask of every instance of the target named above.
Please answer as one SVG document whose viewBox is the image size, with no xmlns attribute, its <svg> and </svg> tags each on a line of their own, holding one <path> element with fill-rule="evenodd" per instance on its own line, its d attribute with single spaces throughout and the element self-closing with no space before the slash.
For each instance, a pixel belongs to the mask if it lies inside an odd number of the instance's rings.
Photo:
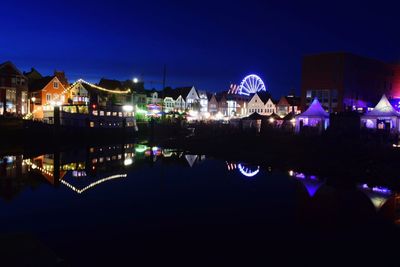
<svg viewBox="0 0 400 267">
<path fill-rule="evenodd" d="M 48 182 L 65 186 L 82 194 L 111 180 L 128 177 L 136 166 L 155 163 L 159 159 L 173 160 L 194 167 L 203 162 L 204 155 L 162 149 L 145 144 L 108 145 L 76 149 L 24 158 L 23 155 L 4 156 L 0 163 L 0 194 L 12 199 L 25 187 Z"/>
</svg>

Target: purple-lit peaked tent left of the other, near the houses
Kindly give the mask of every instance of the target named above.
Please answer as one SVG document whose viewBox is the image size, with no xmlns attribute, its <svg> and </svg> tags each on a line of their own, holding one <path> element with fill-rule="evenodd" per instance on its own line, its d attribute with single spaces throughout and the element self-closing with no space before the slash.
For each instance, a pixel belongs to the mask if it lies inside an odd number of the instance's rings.
<svg viewBox="0 0 400 267">
<path fill-rule="evenodd" d="M 323 109 L 317 98 L 306 111 L 296 116 L 296 132 L 300 132 L 303 127 L 317 128 L 318 132 L 322 132 L 328 126 L 329 113 Z"/>
</svg>

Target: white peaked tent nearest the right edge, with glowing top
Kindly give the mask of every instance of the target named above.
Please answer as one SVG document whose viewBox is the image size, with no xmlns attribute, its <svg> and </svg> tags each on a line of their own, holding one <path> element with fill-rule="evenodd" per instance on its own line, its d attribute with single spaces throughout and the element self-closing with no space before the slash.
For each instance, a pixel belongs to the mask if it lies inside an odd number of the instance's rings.
<svg viewBox="0 0 400 267">
<path fill-rule="evenodd" d="M 399 119 L 400 114 L 383 95 L 376 107 L 361 117 L 361 126 L 369 129 L 388 129 L 398 133 Z"/>
</svg>

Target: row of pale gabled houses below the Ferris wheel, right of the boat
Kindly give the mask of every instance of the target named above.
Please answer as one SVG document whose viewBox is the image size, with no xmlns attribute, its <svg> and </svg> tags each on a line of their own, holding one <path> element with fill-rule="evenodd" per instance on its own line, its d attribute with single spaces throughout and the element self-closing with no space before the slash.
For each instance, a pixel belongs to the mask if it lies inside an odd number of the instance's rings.
<svg viewBox="0 0 400 267">
<path fill-rule="evenodd" d="M 225 117 L 243 117 L 252 113 L 261 115 L 277 114 L 281 117 L 288 113 L 300 112 L 300 99 L 294 94 L 273 100 L 267 92 L 259 92 L 250 96 L 230 93 L 208 93 L 192 87 L 166 88 L 163 91 L 136 93 L 134 104 L 141 109 L 151 105 L 158 107 L 159 112 L 196 111 L 199 115 Z"/>
</svg>

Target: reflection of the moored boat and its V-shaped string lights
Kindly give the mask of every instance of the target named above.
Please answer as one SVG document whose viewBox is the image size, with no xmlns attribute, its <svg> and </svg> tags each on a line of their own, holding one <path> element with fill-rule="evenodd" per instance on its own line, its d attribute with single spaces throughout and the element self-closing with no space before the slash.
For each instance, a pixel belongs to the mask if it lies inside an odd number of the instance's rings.
<svg viewBox="0 0 400 267">
<path fill-rule="evenodd" d="M 81 194 L 106 181 L 127 177 L 121 168 L 133 164 L 134 158 L 133 144 L 109 145 L 43 155 L 24 160 L 24 165 L 52 185 L 61 183 Z"/>
</svg>

